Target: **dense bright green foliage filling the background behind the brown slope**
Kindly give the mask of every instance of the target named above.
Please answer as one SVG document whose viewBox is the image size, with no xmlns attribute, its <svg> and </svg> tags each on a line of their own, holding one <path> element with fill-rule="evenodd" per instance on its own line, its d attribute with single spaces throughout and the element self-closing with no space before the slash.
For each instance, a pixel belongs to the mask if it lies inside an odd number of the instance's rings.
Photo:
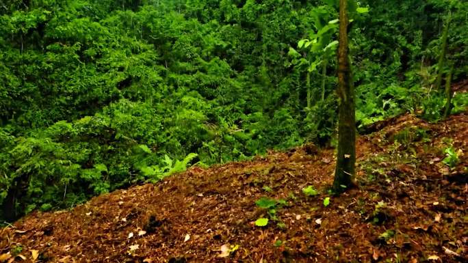
<svg viewBox="0 0 468 263">
<path fill-rule="evenodd" d="M 329 143 L 336 2 L 3 1 L 0 218 L 73 206 L 193 163 Z M 468 4 L 360 5 L 369 13 L 350 30 L 356 125 L 405 111 L 439 120 L 438 70 L 454 66 L 453 83 L 467 78 Z M 463 111 L 467 96 L 452 103 Z"/>
</svg>

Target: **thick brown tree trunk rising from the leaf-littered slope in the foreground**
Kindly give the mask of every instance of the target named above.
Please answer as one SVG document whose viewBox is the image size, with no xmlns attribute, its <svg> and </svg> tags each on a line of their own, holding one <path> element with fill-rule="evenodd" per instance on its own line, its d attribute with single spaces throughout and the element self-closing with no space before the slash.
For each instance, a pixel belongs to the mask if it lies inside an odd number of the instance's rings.
<svg viewBox="0 0 468 263">
<path fill-rule="evenodd" d="M 341 193 L 354 180 L 356 163 L 356 120 L 354 113 L 354 85 L 348 57 L 347 0 L 339 1 L 339 46 L 338 46 L 338 153 L 333 189 Z"/>
</svg>

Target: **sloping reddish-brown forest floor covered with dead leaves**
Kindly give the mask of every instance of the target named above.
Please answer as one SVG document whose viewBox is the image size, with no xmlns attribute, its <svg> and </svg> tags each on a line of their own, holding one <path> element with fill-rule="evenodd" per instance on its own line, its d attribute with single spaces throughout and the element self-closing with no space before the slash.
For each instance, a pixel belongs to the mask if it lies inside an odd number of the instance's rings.
<svg viewBox="0 0 468 263">
<path fill-rule="evenodd" d="M 468 115 L 374 130 L 338 197 L 333 149 L 269 152 L 33 212 L 0 230 L 0 262 L 468 262 Z"/>
</svg>

